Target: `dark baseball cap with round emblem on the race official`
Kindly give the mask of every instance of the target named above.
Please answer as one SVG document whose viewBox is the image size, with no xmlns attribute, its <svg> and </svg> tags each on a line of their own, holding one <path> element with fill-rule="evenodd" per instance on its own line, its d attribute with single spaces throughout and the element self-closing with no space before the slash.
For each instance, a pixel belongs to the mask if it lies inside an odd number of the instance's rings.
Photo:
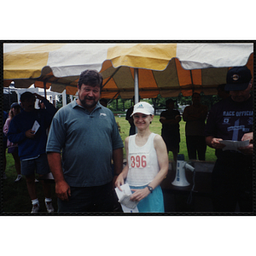
<svg viewBox="0 0 256 256">
<path fill-rule="evenodd" d="M 246 90 L 251 79 L 251 71 L 246 66 L 232 67 L 227 73 L 225 90 Z"/>
</svg>

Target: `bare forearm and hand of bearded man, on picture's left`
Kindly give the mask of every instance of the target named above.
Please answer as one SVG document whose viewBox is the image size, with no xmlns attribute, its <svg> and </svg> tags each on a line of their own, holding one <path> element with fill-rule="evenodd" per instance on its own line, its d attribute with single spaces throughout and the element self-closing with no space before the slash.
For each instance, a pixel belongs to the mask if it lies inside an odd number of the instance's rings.
<svg viewBox="0 0 256 256">
<path fill-rule="evenodd" d="M 61 166 L 61 154 L 49 152 L 47 154 L 49 169 L 55 178 L 55 193 L 62 201 L 68 201 L 68 196 L 71 196 L 70 187 L 65 181 Z"/>
</svg>

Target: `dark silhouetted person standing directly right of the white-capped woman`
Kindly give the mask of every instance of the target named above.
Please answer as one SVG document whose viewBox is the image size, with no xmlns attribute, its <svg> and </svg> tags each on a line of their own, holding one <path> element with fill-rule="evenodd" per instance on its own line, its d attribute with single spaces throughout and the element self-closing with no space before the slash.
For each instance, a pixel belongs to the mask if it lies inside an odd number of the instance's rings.
<svg viewBox="0 0 256 256">
<path fill-rule="evenodd" d="M 173 160 L 177 163 L 177 154 L 179 152 L 180 133 L 179 122 L 181 116 L 178 110 L 174 110 L 174 101 L 166 101 L 166 111 L 160 113 L 160 123 L 162 124 L 161 136 L 163 137 L 167 152 L 172 151 Z"/>
</svg>

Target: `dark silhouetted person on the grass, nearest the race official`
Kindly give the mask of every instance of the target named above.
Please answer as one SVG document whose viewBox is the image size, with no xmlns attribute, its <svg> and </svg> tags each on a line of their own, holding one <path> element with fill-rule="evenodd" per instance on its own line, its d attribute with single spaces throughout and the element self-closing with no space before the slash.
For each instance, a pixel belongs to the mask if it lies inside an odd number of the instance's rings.
<svg viewBox="0 0 256 256">
<path fill-rule="evenodd" d="M 189 160 L 196 160 L 197 156 L 198 160 L 206 160 L 207 144 L 204 131 L 207 112 L 207 106 L 201 104 L 201 95 L 195 92 L 192 105 L 183 111 Z"/>
</svg>

